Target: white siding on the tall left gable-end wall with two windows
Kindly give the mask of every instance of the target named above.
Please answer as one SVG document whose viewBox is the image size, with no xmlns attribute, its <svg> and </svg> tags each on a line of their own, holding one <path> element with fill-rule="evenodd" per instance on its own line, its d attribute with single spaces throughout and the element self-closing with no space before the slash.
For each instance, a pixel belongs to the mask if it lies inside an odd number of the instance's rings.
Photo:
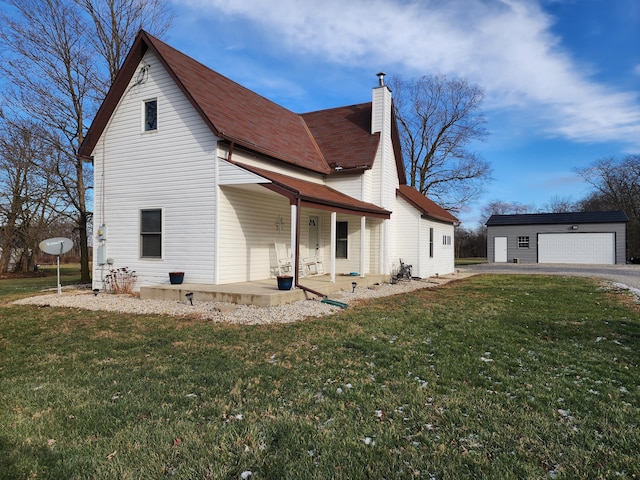
<svg viewBox="0 0 640 480">
<path fill-rule="evenodd" d="M 93 152 L 94 223 L 107 225 L 106 256 L 116 268 L 135 270 L 138 286 L 168 283 L 175 270 L 187 282 L 211 282 L 217 139 L 157 59 L 147 53 L 142 63 L 149 65 L 146 82 L 134 85 L 134 75 Z M 158 129 L 143 132 L 142 104 L 151 98 Z M 143 208 L 162 209 L 161 259 L 140 258 Z M 95 287 L 105 273 L 94 253 Z"/>
</svg>

